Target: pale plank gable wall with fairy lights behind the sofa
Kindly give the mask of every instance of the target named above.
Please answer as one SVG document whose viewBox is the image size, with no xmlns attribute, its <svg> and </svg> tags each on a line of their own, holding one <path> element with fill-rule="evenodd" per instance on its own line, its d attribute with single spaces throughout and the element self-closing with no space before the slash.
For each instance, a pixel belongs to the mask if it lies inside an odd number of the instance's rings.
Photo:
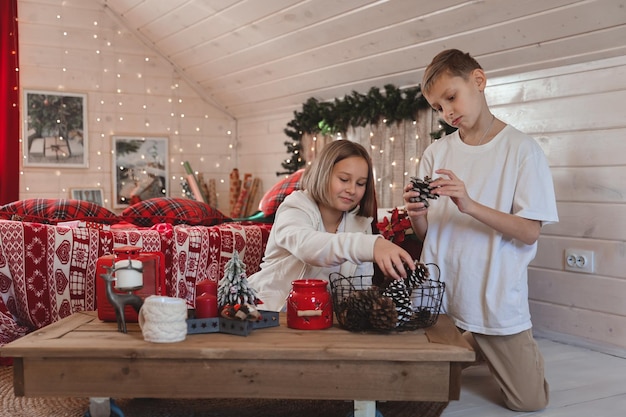
<svg viewBox="0 0 626 417">
<path fill-rule="evenodd" d="M 20 198 L 69 198 L 98 187 L 112 208 L 112 135 L 169 138 L 170 196 L 181 195 L 182 162 L 217 180 L 228 208 L 236 167 L 236 122 L 202 100 L 171 65 L 97 3 L 18 2 L 22 89 L 87 94 L 89 167 L 26 166 Z M 230 132 L 230 133 L 229 133 Z M 116 210 L 119 211 L 119 210 Z"/>
</svg>

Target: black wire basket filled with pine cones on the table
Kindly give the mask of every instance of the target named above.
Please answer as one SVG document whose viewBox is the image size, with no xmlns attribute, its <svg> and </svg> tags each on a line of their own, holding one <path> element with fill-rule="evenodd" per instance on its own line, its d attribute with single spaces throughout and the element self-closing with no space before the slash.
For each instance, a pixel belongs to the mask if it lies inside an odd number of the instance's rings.
<svg viewBox="0 0 626 417">
<path fill-rule="evenodd" d="M 417 264 L 403 280 L 376 286 L 372 276 L 330 274 L 333 310 L 339 325 L 350 331 L 406 331 L 434 325 L 439 318 L 445 283 L 436 264 Z M 430 279 L 430 268 L 437 271 Z"/>
</svg>

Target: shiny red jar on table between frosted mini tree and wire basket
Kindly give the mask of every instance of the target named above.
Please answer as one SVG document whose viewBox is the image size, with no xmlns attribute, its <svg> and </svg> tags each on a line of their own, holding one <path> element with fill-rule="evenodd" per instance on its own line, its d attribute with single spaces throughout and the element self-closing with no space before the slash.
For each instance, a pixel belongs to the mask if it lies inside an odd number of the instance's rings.
<svg viewBox="0 0 626 417">
<path fill-rule="evenodd" d="M 292 281 L 287 297 L 287 327 L 320 330 L 332 325 L 333 303 L 328 282 L 323 279 Z"/>
</svg>

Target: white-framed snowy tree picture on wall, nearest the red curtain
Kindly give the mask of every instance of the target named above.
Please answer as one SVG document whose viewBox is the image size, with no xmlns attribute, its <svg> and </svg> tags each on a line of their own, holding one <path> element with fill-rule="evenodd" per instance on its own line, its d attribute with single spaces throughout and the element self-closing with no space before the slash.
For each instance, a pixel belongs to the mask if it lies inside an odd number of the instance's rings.
<svg viewBox="0 0 626 417">
<path fill-rule="evenodd" d="M 87 95 L 24 90 L 24 166 L 87 168 Z"/>
</svg>

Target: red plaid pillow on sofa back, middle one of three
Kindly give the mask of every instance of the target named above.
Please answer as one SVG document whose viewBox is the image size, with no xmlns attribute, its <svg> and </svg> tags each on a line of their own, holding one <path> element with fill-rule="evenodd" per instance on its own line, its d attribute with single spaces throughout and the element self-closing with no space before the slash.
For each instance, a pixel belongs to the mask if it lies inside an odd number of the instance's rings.
<svg viewBox="0 0 626 417">
<path fill-rule="evenodd" d="M 173 197 L 156 197 L 140 201 L 126 207 L 120 218 L 144 227 L 159 223 L 213 226 L 231 220 L 201 201 Z"/>
</svg>

